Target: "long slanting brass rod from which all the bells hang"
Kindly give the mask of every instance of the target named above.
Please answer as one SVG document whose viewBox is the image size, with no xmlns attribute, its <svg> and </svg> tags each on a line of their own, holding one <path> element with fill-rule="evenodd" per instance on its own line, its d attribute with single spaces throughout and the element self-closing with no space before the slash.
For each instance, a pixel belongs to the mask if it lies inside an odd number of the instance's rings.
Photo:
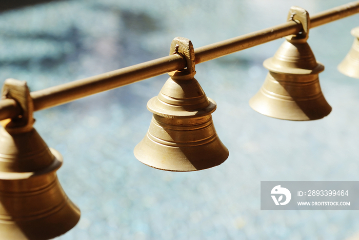
<svg viewBox="0 0 359 240">
<path fill-rule="evenodd" d="M 358 12 L 359 1 L 341 5 L 312 15 L 310 18 L 310 28 L 330 23 Z M 301 31 L 301 28 L 301 24 L 290 21 L 271 28 L 196 48 L 194 49 L 195 64 L 204 63 L 217 57 L 270 42 L 274 39 L 296 34 Z M 34 91 L 31 92 L 30 95 L 33 99 L 34 111 L 38 111 L 65 104 L 95 93 L 135 83 L 153 76 L 180 70 L 185 66 L 186 61 L 181 56 L 170 55 L 142 64 Z M 0 101 L 0 120 L 16 116 L 20 111 L 19 107 L 14 105 L 13 102 Z"/>
</svg>

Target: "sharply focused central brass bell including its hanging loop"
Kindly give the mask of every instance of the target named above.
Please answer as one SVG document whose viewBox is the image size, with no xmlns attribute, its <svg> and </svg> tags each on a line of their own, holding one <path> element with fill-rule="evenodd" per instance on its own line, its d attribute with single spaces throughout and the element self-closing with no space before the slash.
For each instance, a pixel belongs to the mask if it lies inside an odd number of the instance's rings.
<svg viewBox="0 0 359 240">
<path fill-rule="evenodd" d="M 170 72 L 158 96 L 148 101 L 152 121 L 134 155 L 150 167 L 167 171 L 196 171 L 220 165 L 229 153 L 214 129 L 211 113 L 216 103 L 194 78 L 192 43 L 177 37 L 171 44 L 172 53 L 184 56 L 187 68 Z"/>
</svg>

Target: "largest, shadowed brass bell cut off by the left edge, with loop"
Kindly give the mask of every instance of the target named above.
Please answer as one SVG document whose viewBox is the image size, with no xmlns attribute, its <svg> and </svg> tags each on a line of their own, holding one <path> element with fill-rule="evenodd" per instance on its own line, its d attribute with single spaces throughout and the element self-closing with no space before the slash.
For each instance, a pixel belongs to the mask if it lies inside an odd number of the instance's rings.
<svg viewBox="0 0 359 240">
<path fill-rule="evenodd" d="M 15 99 L 23 113 L 1 121 L 0 240 L 62 235 L 80 217 L 57 179 L 63 158 L 32 127 L 33 105 L 26 82 L 7 79 L 3 97 Z"/>
</svg>

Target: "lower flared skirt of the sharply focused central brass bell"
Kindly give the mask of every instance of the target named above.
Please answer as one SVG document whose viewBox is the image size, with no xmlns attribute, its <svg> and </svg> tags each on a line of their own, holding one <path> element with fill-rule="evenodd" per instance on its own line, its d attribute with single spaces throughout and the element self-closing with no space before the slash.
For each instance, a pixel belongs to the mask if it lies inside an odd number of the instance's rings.
<svg viewBox="0 0 359 240">
<path fill-rule="evenodd" d="M 202 119 L 200 119 L 202 118 Z M 228 150 L 218 137 L 211 116 L 168 119 L 153 114 L 134 154 L 142 163 L 167 171 L 196 171 L 222 164 Z"/>
</svg>

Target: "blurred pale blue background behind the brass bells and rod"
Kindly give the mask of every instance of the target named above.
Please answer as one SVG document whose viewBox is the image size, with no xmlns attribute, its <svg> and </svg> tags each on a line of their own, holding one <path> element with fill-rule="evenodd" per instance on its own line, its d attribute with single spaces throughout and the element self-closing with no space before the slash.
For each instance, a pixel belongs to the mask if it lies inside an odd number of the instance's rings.
<svg viewBox="0 0 359 240">
<path fill-rule="evenodd" d="M 0 82 L 32 91 L 166 56 L 172 39 L 194 47 L 286 21 L 289 8 L 310 14 L 342 0 L 56 1 L 0 13 Z M 133 148 L 145 136 L 161 75 L 35 112 L 35 128 L 64 156 L 59 180 L 82 211 L 56 239 L 359 239 L 356 211 L 261 211 L 261 181 L 359 181 L 359 81 L 336 66 L 353 42 L 359 15 L 310 30 L 324 95 L 324 119 L 290 122 L 253 111 L 262 66 L 284 39 L 196 66 L 217 103 L 214 125 L 230 155 L 198 172 L 152 169 Z"/>
</svg>

